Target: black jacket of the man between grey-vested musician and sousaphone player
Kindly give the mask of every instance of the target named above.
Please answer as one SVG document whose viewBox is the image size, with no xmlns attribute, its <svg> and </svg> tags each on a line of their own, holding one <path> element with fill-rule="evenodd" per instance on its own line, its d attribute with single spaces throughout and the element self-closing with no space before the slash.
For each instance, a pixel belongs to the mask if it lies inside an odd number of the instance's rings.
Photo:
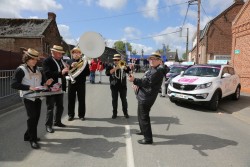
<svg viewBox="0 0 250 167">
<path fill-rule="evenodd" d="M 61 63 L 61 61 L 57 61 L 61 71 L 64 68 L 63 64 Z M 52 82 L 52 84 L 50 86 L 53 86 L 55 83 L 58 83 L 58 78 L 62 79 L 62 90 L 66 91 L 66 78 L 64 75 L 62 75 L 62 72 L 58 72 L 58 68 L 56 63 L 54 62 L 52 56 L 47 57 L 46 59 L 44 59 L 43 61 L 43 74 L 45 76 L 45 80 L 48 80 L 50 78 L 52 78 L 54 81 Z"/>
</svg>

